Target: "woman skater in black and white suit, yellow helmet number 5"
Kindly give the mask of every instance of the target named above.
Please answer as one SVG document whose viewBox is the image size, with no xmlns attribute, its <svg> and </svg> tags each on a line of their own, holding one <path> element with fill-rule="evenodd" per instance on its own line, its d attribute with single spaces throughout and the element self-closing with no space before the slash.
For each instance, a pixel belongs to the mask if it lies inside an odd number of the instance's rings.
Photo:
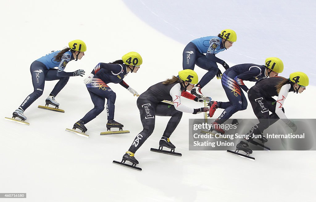
<svg viewBox="0 0 316 202">
<path fill-rule="evenodd" d="M 155 128 L 155 116 L 171 116 L 166 130 L 159 141 L 159 145 L 174 150 L 175 146 L 170 142 L 169 137 L 178 126 L 182 112 L 197 114 L 209 110 L 208 107 L 192 109 L 181 104 L 181 95 L 189 99 L 194 99 L 197 102 L 203 101 L 203 98 L 197 98 L 185 91 L 190 91 L 197 82 L 197 74 L 191 69 L 185 69 L 179 71 L 179 78 L 173 76 L 172 79 L 157 83 L 149 87 L 147 91 L 139 96 L 137 99 L 137 107 L 140 111 L 143 131 L 136 136 L 130 149 L 124 154 L 123 163 L 125 160 L 128 160 L 133 163 L 134 166 L 138 164 L 134 153 L 153 133 Z M 209 100 L 210 98 L 207 99 Z M 173 100 L 173 105 L 162 103 L 161 101 L 163 100 Z"/>
</svg>

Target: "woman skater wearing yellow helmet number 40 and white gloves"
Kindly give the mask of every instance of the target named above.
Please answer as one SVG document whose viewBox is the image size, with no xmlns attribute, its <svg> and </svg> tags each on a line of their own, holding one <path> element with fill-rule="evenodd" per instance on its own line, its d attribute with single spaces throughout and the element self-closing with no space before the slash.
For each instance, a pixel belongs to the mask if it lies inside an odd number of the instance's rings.
<svg viewBox="0 0 316 202">
<path fill-rule="evenodd" d="M 86 132 L 87 128 L 84 124 L 90 122 L 96 116 L 98 116 L 105 106 L 105 99 L 107 99 L 107 124 L 106 128 L 123 128 L 124 126 L 119 122 L 114 121 L 114 104 L 116 99 L 115 92 L 108 86 L 109 83 L 119 83 L 125 87 L 134 96 L 139 94 L 124 82 L 124 77 L 128 73 L 137 73 L 140 65 L 143 63 L 142 57 L 137 52 L 129 52 L 122 56 L 122 60 L 117 60 L 111 63 L 100 62 L 91 74 L 84 80 L 87 86 L 88 92 L 91 96 L 91 100 L 94 104 L 94 108 L 90 110 L 82 119 L 74 124 L 73 129 L 80 129 L 82 132 Z"/>
</svg>

